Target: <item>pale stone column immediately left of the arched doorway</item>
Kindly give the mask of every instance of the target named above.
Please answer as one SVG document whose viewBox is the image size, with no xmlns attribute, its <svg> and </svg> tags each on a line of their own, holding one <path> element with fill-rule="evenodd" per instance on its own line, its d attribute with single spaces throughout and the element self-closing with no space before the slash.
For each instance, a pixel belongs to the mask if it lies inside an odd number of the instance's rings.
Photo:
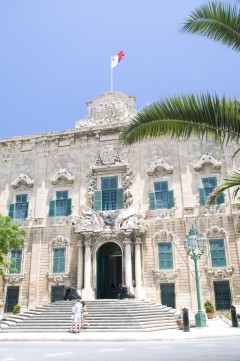
<svg viewBox="0 0 240 361">
<path fill-rule="evenodd" d="M 91 236 L 85 235 L 84 239 L 84 247 L 85 247 L 85 255 L 84 255 L 84 289 L 82 290 L 82 298 L 83 300 L 92 300 L 93 297 L 93 289 L 91 282 L 91 254 L 92 254 L 92 242 Z"/>
</svg>

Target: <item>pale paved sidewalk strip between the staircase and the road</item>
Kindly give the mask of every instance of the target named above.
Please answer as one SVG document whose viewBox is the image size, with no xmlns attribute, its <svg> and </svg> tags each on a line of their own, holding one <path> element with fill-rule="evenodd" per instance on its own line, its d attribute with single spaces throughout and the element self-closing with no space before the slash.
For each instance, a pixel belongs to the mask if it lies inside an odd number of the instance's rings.
<svg viewBox="0 0 240 361">
<path fill-rule="evenodd" d="M 1 341 L 164 341 L 188 340 L 209 337 L 240 336 L 240 327 L 233 328 L 219 318 L 208 320 L 207 327 L 191 328 L 190 332 L 165 330 L 152 332 L 85 332 L 72 334 L 56 333 L 4 333 L 0 332 Z"/>
</svg>

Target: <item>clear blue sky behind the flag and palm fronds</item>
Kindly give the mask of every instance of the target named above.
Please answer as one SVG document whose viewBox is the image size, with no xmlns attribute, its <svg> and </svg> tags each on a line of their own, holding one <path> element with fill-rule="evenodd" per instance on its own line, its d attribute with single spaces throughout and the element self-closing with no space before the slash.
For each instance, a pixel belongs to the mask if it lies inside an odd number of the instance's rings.
<svg viewBox="0 0 240 361">
<path fill-rule="evenodd" d="M 222 3 L 235 3 L 222 1 Z M 136 109 L 192 92 L 240 98 L 239 57 L 179 33 L 204 0 L 0 0 L 0 138 L 66 130 L 114 90 Z"/>
</svg>

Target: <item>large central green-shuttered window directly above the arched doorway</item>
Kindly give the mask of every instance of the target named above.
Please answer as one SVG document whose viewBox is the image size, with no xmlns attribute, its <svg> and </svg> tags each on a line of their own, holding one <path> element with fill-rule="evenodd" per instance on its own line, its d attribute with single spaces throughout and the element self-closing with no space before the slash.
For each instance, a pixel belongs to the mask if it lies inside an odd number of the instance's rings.
<svg viewBox="0 0 240 361">
<path fill-rule="evenodd" d="M 101 178 L 101 191 L 94 192 L 94 210 L 123 209 L 123 189 L 118 188 L 118 177 Z"/>
</svg>

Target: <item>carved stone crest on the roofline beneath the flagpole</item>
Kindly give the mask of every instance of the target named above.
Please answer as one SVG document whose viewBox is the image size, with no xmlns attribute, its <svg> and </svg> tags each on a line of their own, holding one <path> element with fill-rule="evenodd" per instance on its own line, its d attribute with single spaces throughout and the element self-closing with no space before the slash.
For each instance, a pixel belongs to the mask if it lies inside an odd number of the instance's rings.
<svg viewBox="0 0 240 361">
<path fill-rule="evenodd" d="M 76 128 L 119 126 L 136 114 L 135 98 L 120 92 L 102 94 L 87 105 L 89 115 L 76 122 Z"/>
</svg>

